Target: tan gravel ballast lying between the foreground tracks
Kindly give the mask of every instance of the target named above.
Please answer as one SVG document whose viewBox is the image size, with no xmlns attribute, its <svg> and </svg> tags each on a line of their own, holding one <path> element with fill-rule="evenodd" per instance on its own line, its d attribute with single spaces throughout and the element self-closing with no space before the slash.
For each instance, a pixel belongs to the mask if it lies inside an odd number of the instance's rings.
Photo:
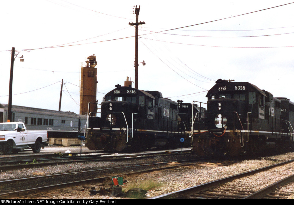
<svg viewBox="0 0 294 205">
<path fill-rule="evenodd" d="M 286 161 L 294 158 L 294 153 L 285 153 L 278 156 L 270 156 L 270 157 L 262 157 L 257 159 L 243 160 L 243 161 L 231 161 L 229 163 L 203 163 L 192 166 L 185 166 L 180 168 L 173 168 L 164 171 L 155 171 L 149 174 L 139 174 L 137 176 L 128 176 L 125 177 L 124 180 L 127 180 L 127 183 L 140 183 L 149 179 L 156 180 L 162 183 L 160 188 L 156 190 L 149 190 L 147 193 L 148 197 L 158 196 L 161 194 L 166 194 L 172 191 L 177 191 L 180 189 L 188 188 L 191 186 L 195 186 L 197 184 L 205 183 L 208 181 L 216 180 L 219 178 L 223 178 L 226 176 L 230 176 L 237 173 L 242 173 L 246 171 L 250 171 L 256 168 L 264 167 L 271 165 L 273 163 L 278 163 L 280 161 Z M 161 161 L 158 159 L 158 161 Z M 105 162 L 106 163 L 106 162 Z M 112 163 L 112 166 L 118 166 L 121 162 L 107 162 Z M 131 162 L 129 162 L 131 164 Z M 138 161 L 133 162 L 138 163 Z M 96 163 L 75 163 L 69 166 L 50 166 L 44 168 L 35 168 L 30 170 L 18 170 L 18 171 L 10 171 L 5 174 L 0 175 L 0 180 L 4 180 L 4 178 L 15 178 L 23 177 L 23 176 L 31 176 L 31 175 L 44 175 L 49 174 L 51 172 L 68 172 L 69 170 L 83 170 L 85 168 L 97 168 L 98 166 L 106 166 L 104 162 Z M 293 174 L 294 168 L 293 164 L 283 167 L 276 168 L 275 170 L 268 171 L 267 176 L 258 176 L 254 179 L 248 177 L 248 179 L 244 180 L 249 181 L 250 186 L 248 187 L 248 183 L 242 185 L 242 181 L 232 182 L 232 186 L 238 185 L 244 186 L 249 189 L 261 189 L 273 181 L 278 181 L 282 176 L 277 178 L 276 176 L 283 174 L 290 175 Z M 76 186 L 61 190 L 54 190 L 50 193 L 39 193 L 33 196 L 29 196 L 26 199 L 121 199 L 116 197 L 109 196 L 89 196 L 89 190 L 93 187 L 96 190 L 99 190 L 101 186 L 106 186 L 106 184 L 110 184 L 111 182 L 105 182 L 101 184 L 89 184 L 85 186 Z M 294 191 L 294 183 L 288 185 L 283 188 L 287 191 Z M 283 190 L 283 191 L 285 191 Z M 294 195 L 293 195 L 294 196 Z M 289 198 L 293 198 L 290 196 Z M 25 199 L 25 198 L 24 198 Z"/>
</svg>

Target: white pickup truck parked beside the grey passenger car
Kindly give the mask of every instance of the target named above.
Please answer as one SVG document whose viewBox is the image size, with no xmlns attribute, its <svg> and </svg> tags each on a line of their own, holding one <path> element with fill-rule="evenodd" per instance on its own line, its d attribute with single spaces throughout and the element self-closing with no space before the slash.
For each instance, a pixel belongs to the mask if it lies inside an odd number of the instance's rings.
<svg viewBox="0 0 294 205">
<path fill-rule="evenodd" d="M 0 123 L 0 151 L 4 154 L 16 154 L 27 148 L 39 153 L 46 141 L 46 130 L 27 130 L 24 123 Z"/>
</svg>

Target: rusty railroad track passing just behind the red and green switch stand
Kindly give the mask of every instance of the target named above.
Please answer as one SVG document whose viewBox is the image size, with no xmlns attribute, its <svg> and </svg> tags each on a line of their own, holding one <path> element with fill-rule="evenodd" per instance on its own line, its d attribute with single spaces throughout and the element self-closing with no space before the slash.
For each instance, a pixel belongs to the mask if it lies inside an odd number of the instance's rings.
<svg viewBox="0 0 294 205">
<path fill-rule="evenodd" d="M 169 166 L 168 164 L 172 162 L 179 163 L 179 164 L 176 166 Z M 113 176 L 126 176 L 126 175 L 130 176 L 130 175 L 138 174 L 138 173 L 146 173 L 146 172 L 158 171 L 163 169 L 177 168 L 179 166 L 189 166 L 195 163 L 200 163 L 199 159 L 182 160 L 182 161 L 166 161 L 161 163 L 139 164 L 139 165 L 123 166 L 123 167 L 111 167 L 111 168 L 103 168 L 98 170 L 62 173 L 62 174 L 0 181 L 0 186 L 1 186 L 0 199 L 19 198 L 21 196 L 26 196 L 29 193 L 35 193 L 37 191 L 59 189 L 59 188 L 61 189 L 64 187 L 69 187 L 69 186 L 101 182 L 105 179 L 111 179 Z M 136 171 L 133 171 L 135 169 Z M 101 177 L 93 178 L 93 176 L 101 176 Z M 46 186 L 43 186 L 45 184 Z M 17 188 L 20 188 L 20 189 L 16 190 Z"/>
</svg>

